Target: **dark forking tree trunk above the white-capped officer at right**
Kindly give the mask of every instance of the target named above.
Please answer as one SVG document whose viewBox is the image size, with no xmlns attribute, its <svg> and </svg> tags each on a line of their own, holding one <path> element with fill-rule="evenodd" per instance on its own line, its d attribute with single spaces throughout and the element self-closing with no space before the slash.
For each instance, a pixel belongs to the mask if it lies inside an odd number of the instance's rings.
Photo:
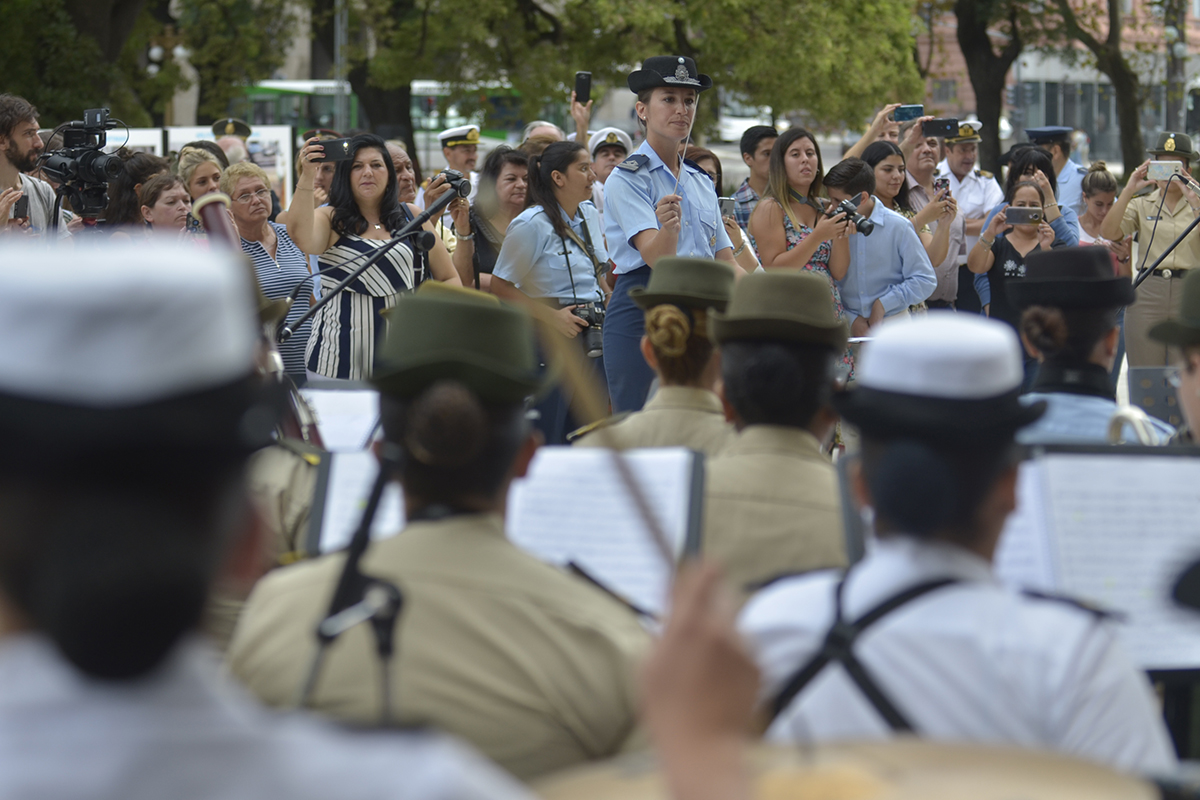
<svg viewBox="0 0 1200 800">
<path fill-rule="evenodd" d="M 1024 47 L 1016 29 L 1015 13 L 1009 17 L 1012 35 L 1004 49 L 997 54 L 991 46 L 988 29 L 992 23 L 996 2 L 979 0 L 955 0 L 954 16 L 958 19 L 959 48 L 967 62 L 967 74 L 976 94 L 976 114 L 983 122 L 979 136 L 979 166 L 1000 174 L 1000 116 L 1004 107 L 1004 82 L 1008 70 L 1016 61 Z"/>
</svg>

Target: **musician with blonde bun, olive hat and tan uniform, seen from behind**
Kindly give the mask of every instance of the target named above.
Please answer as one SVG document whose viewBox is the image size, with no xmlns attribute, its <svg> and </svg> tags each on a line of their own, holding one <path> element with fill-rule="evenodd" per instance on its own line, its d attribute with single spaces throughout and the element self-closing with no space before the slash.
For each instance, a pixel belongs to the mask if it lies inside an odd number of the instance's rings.
<svg viewBox="0 0 1200 800">
<path fill-rule="evenodd" d="M 721 359 L 708 337 L 708 314 L 725 311 L 733 270 L 702 258 L 662 258 L 630 299 L 646 311 L 642 356 L 659 390 L 640 411 L 578 432 L 581 447 L 690 447 L 714 456 L 736 435 L 714 389 Z M 604 429 L 596 429 L 604 428 Z"/>
</svg>

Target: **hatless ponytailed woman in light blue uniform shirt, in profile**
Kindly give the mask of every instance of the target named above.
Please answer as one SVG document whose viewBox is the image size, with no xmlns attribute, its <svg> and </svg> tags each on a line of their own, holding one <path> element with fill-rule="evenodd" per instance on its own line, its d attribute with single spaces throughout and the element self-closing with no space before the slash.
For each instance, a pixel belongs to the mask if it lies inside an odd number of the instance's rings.
<svg viewBox="0 0 1200 800">
<path fill-rule="evenodd" d="M 496 257 L 493 294 L 523 305 L 563 336 L 577 339 L 604 381 L 599 324 L 605 293 L 599 273 L 608 260 L 600 215 L 592 204 L 592 156 L 576 142 L 556 142 L 529 160 L 533 201 L 511 223 Z M 575 429 L 568 398 L 554 389 L 539 405 L 547 444 L 565 444 Z"/>
</svg>

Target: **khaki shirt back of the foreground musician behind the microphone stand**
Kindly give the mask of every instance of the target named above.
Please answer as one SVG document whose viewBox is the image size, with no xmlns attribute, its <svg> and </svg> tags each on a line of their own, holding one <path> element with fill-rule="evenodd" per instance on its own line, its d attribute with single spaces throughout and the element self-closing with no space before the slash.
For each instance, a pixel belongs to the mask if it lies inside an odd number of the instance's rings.
<svg viewBox="0 0 1200 800">
<path fill-rule="evenodd" d="M 247 601 L 229 664 L 268 704 L 295 700 L 343 559 L 276 570 Z M 498 515 L 414 523 L 373 543 L 362 571 L 404 595 L 392 718 L 455 734 L 522 780 L 628 746 L 649 636 L 618 601 L 510 543 Z M 360 625 L 330 646 L 312 705 L 374 724 L 380 697 Z"/>
</svg>

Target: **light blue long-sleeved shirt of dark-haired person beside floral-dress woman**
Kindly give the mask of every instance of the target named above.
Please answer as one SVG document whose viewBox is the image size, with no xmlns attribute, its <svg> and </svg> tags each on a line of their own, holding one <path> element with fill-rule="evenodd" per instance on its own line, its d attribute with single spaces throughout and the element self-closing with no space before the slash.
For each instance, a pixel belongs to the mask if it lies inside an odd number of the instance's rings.
<svg viewBox="0 0 1200 800">
<path fill-rule="evenodd" d="M 841 303 L 850 315 L 870 317 L 876 300 L 883 315 L 890 317 L 925 301 L 937 288 L 937 275 L 929 261 L 912 222 L 887 209 L 877 197 L 871 216 L 870 236 L 850 236 L 850 270 L 838 282 Z"/>
</svg>

